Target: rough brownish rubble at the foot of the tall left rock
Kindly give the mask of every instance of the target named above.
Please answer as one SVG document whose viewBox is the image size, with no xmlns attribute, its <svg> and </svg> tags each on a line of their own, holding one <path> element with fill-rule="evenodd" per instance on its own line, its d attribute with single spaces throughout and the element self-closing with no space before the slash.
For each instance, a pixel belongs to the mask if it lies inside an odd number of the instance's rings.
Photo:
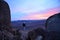
<svg viewBox="0 0 60 40">
<path fill-rule="evenodd" d="M 16 29 L 12 30 L 11 32 L 7 30 L 0 31 L 0 39 L 1 40 L 22 40 L 21 33 Z"/>
</svg>

